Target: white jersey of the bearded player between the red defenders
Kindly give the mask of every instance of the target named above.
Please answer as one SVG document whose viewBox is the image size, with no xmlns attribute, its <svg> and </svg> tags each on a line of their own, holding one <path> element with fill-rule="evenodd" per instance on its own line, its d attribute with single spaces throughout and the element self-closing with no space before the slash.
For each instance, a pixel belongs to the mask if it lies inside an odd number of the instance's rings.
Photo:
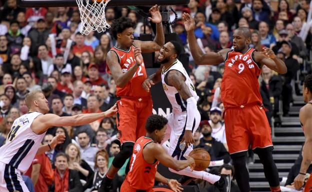
<svg viewBox="0 0 312 192">
<path fill-rule="evenodd" d="M 186 100 L 184 100 L 180 96 L 180 94 L 175 89 L 175 87 L 167 85 L 166 82 L 164 81 L 164 78 L 165 78 L 167 72 L 169 72 L 170 70 L 177 70 L 177 71 L 181 72 L 183 74 L 183 76 L 185 77 L 185 83 L 186 83 L 187 87 L 189 88 L 189 91 L 192 94 L 192 96 L 195 98 L 196 101 L 198 100 L 199 97 L 197 96 L 197 94 L 195 92 L 195 87 L 194 87 L 193 83 L 191 82 L 186 70 L 184 69 L 182 63 L 179 60 L 176 59 L 176 61 L 174 61 L 174 63 L 172 63 L 171 66 L 169 68 L 167 68 L 166 70 L 164 70 L 164 68 L 162 68 L 162 71 L 161 71 L 162 87 L 163 87 L 163 90 L 164 90 L 169 102 L 171 103 L 173 112 L 177 113 L 177 112 L 186 111 L 186 105 L 187 105 Z"/>
</svg>

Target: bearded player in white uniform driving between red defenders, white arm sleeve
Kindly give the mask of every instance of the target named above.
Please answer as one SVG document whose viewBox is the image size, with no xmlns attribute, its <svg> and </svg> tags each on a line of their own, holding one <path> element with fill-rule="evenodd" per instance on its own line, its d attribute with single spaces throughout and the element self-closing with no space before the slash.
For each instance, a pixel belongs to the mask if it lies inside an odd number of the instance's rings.
<svg viewBox="0 0 312 192">
<path fill-rule="evenodd" d="M 197 110 L 198 96 L 186 70 L 177 59 L 181 51 L 182 47 L 177 41 L 169 41 L 164 44 L 157 58 L 157 62 L 162 65 L 142 84 L 142 87 L 149 91 L 155 83 L 160 81 L 162 83 L 163 90 L 172 106 L 172 113 L 167 117 L 167 134 L 162 141 L 170 139 L 167 152 L 177 160 L 185 160 L 183 156 L 188 155 L 193 150 L 193 134 L 200 123 L 200 114 Z M 167 148 L 165 144 L 163 147 Z M 226 191 L 225 176 L 216 176 L 203 171 L 191 171 L 189 168 L 178 172 L 170 168 L 169 170 L 187 176 L 180 180 L 182 185 L 189 183 L 192 178 L 197 178 L 215 185 L 220 192 Z"/>
</svg>

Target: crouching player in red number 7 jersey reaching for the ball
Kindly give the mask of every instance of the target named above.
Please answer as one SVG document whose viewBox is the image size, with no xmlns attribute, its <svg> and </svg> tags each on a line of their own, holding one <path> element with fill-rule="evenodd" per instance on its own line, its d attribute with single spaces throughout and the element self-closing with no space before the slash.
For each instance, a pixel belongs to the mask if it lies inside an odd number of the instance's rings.
<svg viewBox="0 0 312 192">
<path fill-rule="evenodd" d="M 167 184 L 174 192 L 183 190 L 176 180 L 166 179 L 157 172 L 160 162 L 176 171 L 188 166 L 194 168 L 194 159 L 188 156 L 186 160 L 178 161 L 169 156 L 161 147 L 168 120 L 160 115 L 148 117 L 145 125 L 145 136 L 138 138 L 130 161 L 130 170 L 123 181 L 120 192 L 153 192 L 154 180 Z"/>
</svg>

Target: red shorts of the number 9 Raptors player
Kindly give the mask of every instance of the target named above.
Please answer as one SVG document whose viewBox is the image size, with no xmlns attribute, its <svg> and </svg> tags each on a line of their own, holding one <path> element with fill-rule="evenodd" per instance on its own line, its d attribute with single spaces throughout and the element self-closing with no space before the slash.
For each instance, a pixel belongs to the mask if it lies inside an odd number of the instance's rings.
<svg viewBox="0 0 312 192">
<path fill-rule="evenodd" d="M 227 108 L 224 112 L 225 134 L 229 154 L 273 146 L 271 128 L 264 107 L 259 105 Z"/>
</svg>

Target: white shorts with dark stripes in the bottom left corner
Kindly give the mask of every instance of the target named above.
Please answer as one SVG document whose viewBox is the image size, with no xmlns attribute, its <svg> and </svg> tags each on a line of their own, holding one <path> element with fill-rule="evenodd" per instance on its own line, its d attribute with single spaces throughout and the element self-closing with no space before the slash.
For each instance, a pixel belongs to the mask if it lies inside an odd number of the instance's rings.
<svg viewBox="0 0 312 192">
<path fill-rule="evenodd" d="M 0 192 L 29 192 L 20 172 L 0 162 Z"/>
</svg>

